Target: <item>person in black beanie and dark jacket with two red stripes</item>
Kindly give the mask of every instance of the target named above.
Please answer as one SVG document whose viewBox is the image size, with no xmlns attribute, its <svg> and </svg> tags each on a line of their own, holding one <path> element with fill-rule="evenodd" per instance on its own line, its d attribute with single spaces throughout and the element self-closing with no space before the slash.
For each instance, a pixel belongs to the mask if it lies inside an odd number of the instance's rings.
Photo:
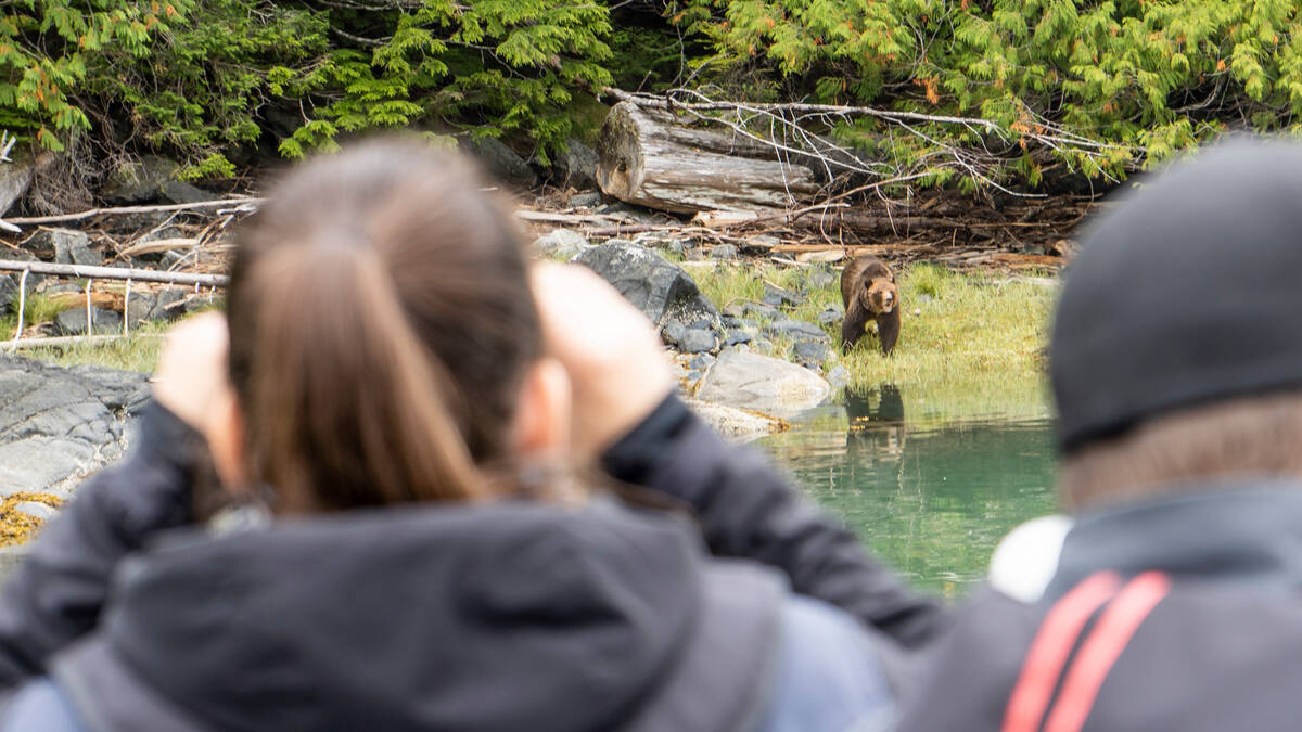
<svg viewBox="0 0 1302 732">
<path fill-rule="evenodd" d="M 1298 728 L 1302 147 L 1147 182 L 1088 232 L 1053 324 L 1074 524 L 1043 574 L 996 556 L 904 729 Z"/>
</svg>

